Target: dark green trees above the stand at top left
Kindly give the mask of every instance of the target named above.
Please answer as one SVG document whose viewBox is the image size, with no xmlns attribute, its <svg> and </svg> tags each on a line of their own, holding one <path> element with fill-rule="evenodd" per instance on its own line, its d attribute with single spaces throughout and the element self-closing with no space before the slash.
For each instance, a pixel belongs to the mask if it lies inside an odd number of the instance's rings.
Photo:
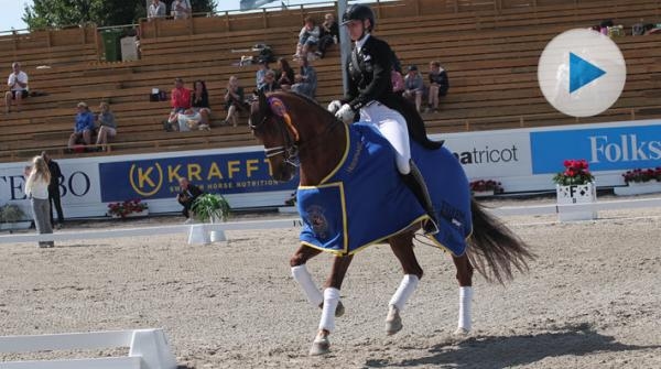
<svg viewBox="0 0 661 369">
<path fill-rule="evenodd" d="M 170 10 L 172 1 L 164 2 Z M 212 12 L 216 4 L 215 0 L 191 0 L 193 12 Z M 145 0 L 33 0 L 32 6 L 25 6 L 23 21 L 31 30 L 87 23 L 132 24 L 147 17 L 147 6 Z"/>
</svg>

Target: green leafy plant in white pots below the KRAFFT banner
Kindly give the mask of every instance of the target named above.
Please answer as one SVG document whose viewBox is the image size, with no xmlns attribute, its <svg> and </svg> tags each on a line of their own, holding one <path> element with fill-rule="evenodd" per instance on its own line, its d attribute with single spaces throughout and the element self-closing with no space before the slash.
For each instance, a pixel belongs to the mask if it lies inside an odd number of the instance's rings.
<svg viewBox="0 0 661 369">
<path fill-rule="evenodd" d="M 226 221 L 229 217 L 229 203 L 220 194 L 202 194 L 193 202 L 191 211 L 202 223 Z M 204 225 L 194 225 L 191 227 L 188 243 L 210 243 L 225 241 L 225 234 L 221 230 L 212 230 L 206 232 Z"/>
</svg>

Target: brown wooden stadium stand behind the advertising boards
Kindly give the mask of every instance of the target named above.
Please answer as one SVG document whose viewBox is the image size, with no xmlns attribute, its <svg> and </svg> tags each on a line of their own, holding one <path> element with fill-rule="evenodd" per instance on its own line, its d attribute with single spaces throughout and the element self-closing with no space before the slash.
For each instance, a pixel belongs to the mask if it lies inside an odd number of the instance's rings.
<svg viewBox="0 0 661 369">
<path fill-rule="evenodd" d="M 655 0 L 402 0 L 372 4 L 377 33 L 386 39 L 402 65 L 426 66 L 441 61 L 451 88 L 438 113 L 425 113 L 432 133 L 519 127 L 619 121 L 661 117 L 661 35 L 631 36 L 631 25 L 659 21 Z M 236 75 L 249 90 L 254 66 L 239 66 L 253 45 L 268 44 L 275 55 L 291 54 L 302 19 L 322 19 L 329 7 L 194 17 L 187 21 L 140 23 L 141 58 L 105 62 L 99 31 L 94 28 L 12 33 L 0 36 L 0 65 L 19 61 L 30 75 L 31 90 L 20 113 L 0 117 L 0 161 L 24 160 L 42 150 L 65 155 L 74 107 L 80 100 L 96 109 L 108 101 L 119 133 L 108 153 L 227 148 L 256 144 L 248 128 L 214 127 L 212 131 L 165 132 L 169 101 L 150 101 L 152 88 L 170 91 L 175 77 L 187 86 L 207 84 L 212 122 L 225 117 L 223 95 Z M 604 19 L 625 25 L 615 39 L 627 61 L 627 84 L 619 100 L 590 118 L 556 112 L 537 83 L 537 63 L 559 33 L 589 28 Z M 248 51 L 246 51 L 248 50 Z M 325 105 L 340 95 L 339 52 L 332 47 L 314 62 L 317 100 Z M 426 67 L 421 67 L 426 75 Z M 217 126 L 217 124 L 216 124 Z"/>
</svg>

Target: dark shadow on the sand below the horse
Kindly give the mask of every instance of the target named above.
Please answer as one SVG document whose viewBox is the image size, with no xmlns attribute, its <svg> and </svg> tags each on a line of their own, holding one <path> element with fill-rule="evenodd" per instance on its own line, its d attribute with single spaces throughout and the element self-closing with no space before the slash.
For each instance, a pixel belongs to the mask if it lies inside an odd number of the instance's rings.
<svg viewBox="0 0 661 369">
<path fill-rule="evenodd" d="M 661 346 L 635 346 L 617 343 L 614 337 L 604 336 L 588 324 L 561 327 L 559 332 L 520 336 L 479 336 L 464 341 L 432 347 L 432 354 L 420 359 L 386 362 L 368 360 L 367 367 L 418 367 L 440 368 L 507 368 L 529 365 L 548 357 L 565 355 L 582 356 L 590 352 L 617 352 L 659 348 Z"/>
</svg>

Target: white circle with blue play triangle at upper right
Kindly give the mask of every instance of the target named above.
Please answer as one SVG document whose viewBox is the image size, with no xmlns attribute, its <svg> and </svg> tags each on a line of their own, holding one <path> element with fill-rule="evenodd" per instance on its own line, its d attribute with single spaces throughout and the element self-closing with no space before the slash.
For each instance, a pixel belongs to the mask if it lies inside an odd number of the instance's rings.
<svg viewBox="0 0 661 369">
<path fill-rule="evenodd" d="M 542 94 L 555 109 L 590 117 L 617 101 L 627 79 L 622 53 L 608 36 L 571 30 L 555 36 L 538 65 Z"/>
</svg>

